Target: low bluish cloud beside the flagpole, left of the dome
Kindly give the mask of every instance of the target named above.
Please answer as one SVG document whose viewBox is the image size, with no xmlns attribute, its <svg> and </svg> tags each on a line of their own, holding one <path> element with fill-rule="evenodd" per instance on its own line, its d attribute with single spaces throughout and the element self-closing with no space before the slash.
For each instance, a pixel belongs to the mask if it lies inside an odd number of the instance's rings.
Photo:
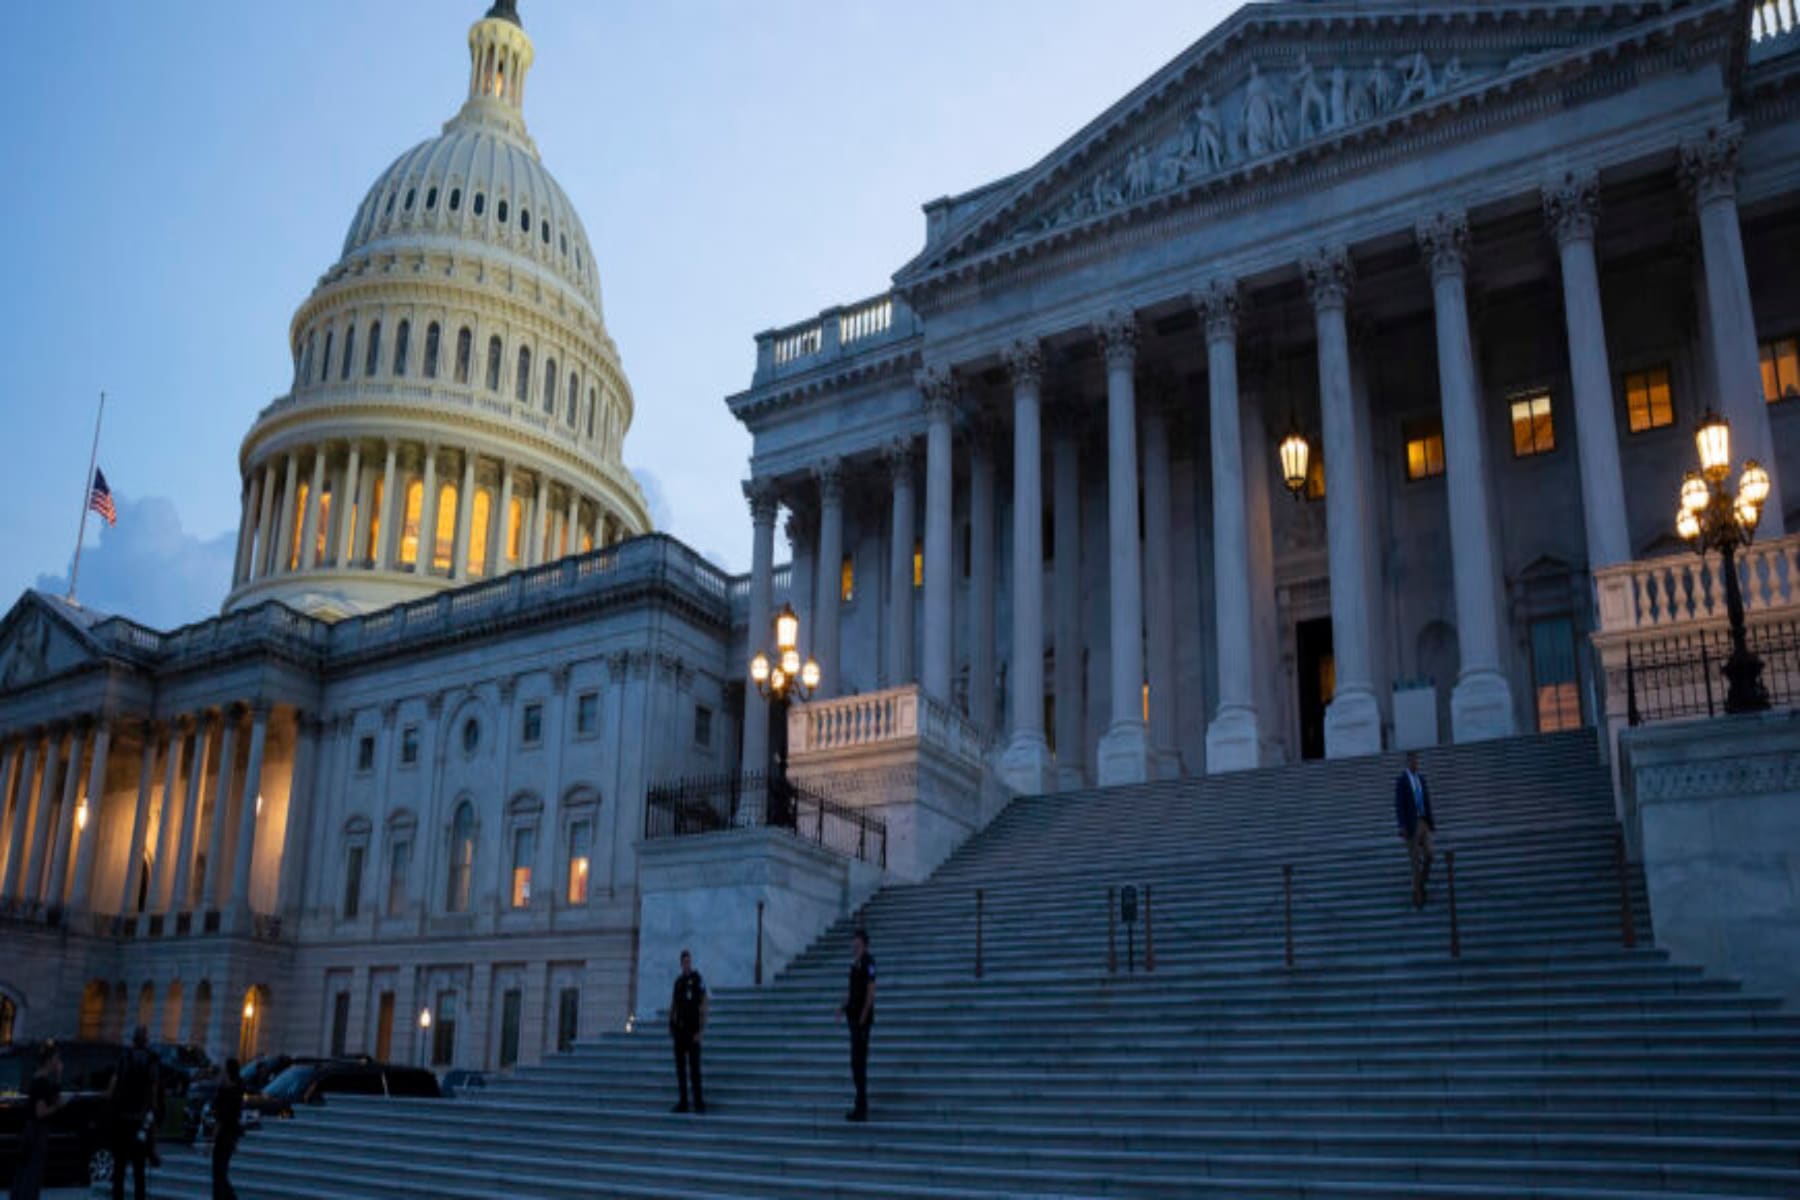
<svg viewBox="0 0 1800 1200">
<path fill-rule="evenodd" d="M 157 630 L 216 617 L 230 590 L 236 531 L 196 538 L 182 529 L 167 497 L 130 500 L 115 493 L 113 500 L 117 525 L 88 518 L 101 536 L 81 551 L 81 603 Z M 61 596 L 68 578 L 38 576 L 36 587 Z"/>
</svg>

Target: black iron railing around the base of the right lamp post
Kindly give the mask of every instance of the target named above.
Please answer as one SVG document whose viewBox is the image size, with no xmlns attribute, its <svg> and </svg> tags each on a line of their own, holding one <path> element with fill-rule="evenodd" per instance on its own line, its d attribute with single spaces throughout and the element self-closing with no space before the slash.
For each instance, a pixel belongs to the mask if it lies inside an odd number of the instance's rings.
<svg viewBox="0 0 1800 1200">
<path fill-rule="evenodd" d="M 1762 658 L 1762 687 L 1777 709 L 1800 707 L 1800 621 L 1759 622 L 1746 630 Z M 1625 651 L 1625 720 L 1633 725 L 1724 712 L 1726 628 L 1696 630 L 1631 646 Z M 1613 693 L 1615 696 L 1618 693 Z"/>
</svg>

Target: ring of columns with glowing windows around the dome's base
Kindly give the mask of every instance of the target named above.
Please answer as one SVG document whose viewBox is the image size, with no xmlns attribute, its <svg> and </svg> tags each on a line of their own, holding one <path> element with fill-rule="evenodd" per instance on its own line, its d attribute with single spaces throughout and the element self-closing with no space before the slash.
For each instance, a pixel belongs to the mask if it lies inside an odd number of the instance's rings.
<svg viewBox="0 0 1800 1200">
<path fill-rule="evenodd" d="M 412 570 L 439 574 L 437 504 L 443 491 L 439 459 L 443 450 L 428 444 L 421 462 L 401 464 L 401 443 L 387 441 L 376 446 L 376 455 L 364 462 L 362 443 L 349 443 L 344 457 L 333 462 L 328 448 L 270 455 L 261 470 L 252 468 L 243 491 L 243 513 L 238 527 L 238 556 L 234 583 L 279 578 L 308 570 Z M 306 498 L 301 504 L 301 470 L 311 459 L 306 480 Z M 455 479 L 457 513 L 450 545 L 448 578 L 463 583 L 470 578 L 493 576 L 515 567 L 540 563 L 574 554 L 589 545 L 610 545 L 623 536 L 623 524 L 598 502 L 581 497 L 571 482 L 547 480 L 536 471 L 522 471 L 515 462 L 500 461 L 495 480 L 477 480 L 479 455 L 461 452 L 461 473 Z M 407 489 L 419 482 L 419 522 L 414 561 L 401 561 L 400 542 L 405 520 Z M 493 491 L 493 482 L 499 491 Z M 477 489 L 493 500 L 486 520 L 486 549 L 481 561 L 472 561 L 475 536 L 473 511 Z M 322 497 L 333 497 L 329 507 Z M 560 497 L 558 497 L 560 493 Z M 380 504 L 374 497 L 380 495 Z M 518 554 L 509 554 L 513 498 L 524 506 L 520 513 Z M 293 531 L 299 525 L 299 558 L 293 556 Z M 322 525 L 328 525 L 322 529 Z M 324 533 L 324 554 L 319 554 Z"/>
</svg>

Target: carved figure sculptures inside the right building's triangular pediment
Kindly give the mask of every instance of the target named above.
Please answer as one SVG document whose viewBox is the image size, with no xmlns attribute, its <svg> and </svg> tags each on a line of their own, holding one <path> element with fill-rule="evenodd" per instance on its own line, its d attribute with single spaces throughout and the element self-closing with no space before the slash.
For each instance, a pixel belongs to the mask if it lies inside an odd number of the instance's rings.
<svg viewBox="0 0 1800 1200">
<path fill-rule="evenodd" d="M 1280 155 L 1305 142 L 1415 108 L 1471 83 L 1458 56 L 1433 63 L 1424 50 L 1388 63 L 1314 67 L 1305 54 L 1276 76 L 1251 63 L 1231 94 L 1201 90 L 1168 133 L 1132 146 L 1125 160 L 1093 175 L 1013 232 L 1035 237 L 1051 228 L 1125 209 L 1222 171 Z M 1165 117 L 1163 124 L 1170 119 Z"/>
</svg>

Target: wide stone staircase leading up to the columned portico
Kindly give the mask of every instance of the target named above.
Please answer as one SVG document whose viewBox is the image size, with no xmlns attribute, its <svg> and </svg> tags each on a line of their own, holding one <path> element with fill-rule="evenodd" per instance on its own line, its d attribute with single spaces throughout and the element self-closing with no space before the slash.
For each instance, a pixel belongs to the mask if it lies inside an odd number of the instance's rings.
<svg viewBox="0 0 1800 1200">
<path fill-rule="evenodd" d="M 646 1015 L 479 1101 L 306 1110 L 247 1141 L 239 1187 L 1800 1196 L 1800 1016 L 1647 948 L 1636 878 L 1640 948 L 1622 948 L 1593 736 L 1427 752 L 1456 851 L 1454 959 L 1442 864 L 1429 909 L 1408 903 L 1397 770 L 1384 756 L 1019 799 L 770 986 L 715 993 L 706 1117 L 668 1114 L 670 1047 Z M 1150 887 L 1136 973 L 1123 928 L 1107 970 L 1121 883 Z M 868 1126 L 842 1121 L 833 1022 L 859 921 L 880 964 Z M 158 1195 L 207 1195 L 200 1159 L 162 1175 Z"/>
</svg>

